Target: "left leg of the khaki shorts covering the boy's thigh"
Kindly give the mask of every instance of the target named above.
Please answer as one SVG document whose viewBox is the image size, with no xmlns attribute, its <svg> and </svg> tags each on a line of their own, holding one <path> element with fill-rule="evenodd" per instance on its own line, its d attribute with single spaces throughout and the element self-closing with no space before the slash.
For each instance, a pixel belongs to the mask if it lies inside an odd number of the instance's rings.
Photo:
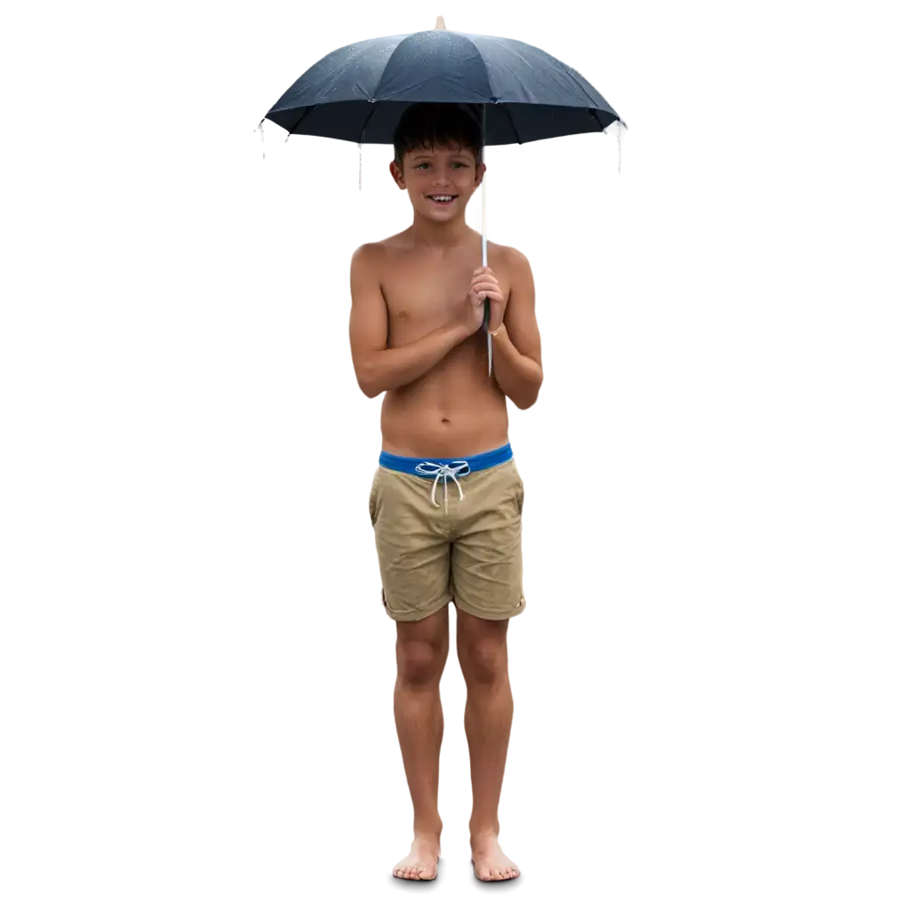
<svg viewBox="0 0 910 910">
<path fill-rule="evenodd" d="M 383 606 L 394 622 L 418 622 L 450 602 L 450 542 L 430 511 L 424 480 L 379 469 L 374 483 L 373 547 Z"/>
</svg>

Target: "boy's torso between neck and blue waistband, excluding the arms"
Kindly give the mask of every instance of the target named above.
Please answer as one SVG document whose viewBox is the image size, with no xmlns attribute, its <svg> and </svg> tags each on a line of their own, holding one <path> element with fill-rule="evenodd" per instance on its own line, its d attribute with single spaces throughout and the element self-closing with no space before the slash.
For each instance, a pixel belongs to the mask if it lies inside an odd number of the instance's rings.
<svg viewBox="0 0 910 910">
<path fill-rule="evenodd" d="M 476 242 L 474 242 L 476 239 Z M 451 319 L 480 265 L 480 238 L 461 248 L 413 246 L 389 238 L 380 283 L 389 308 L 389 348 L 409 344 Z M 488 248 L 490 268 L 509 298 L 501 248 Z M 509 441 L 506 399 L 487 374 L 487 336 L 480 331 L 452 349 L 416 382 L 389 392 L 378 407 L 379 447 L 411 458 L 465 458 Z"/>
</svg>

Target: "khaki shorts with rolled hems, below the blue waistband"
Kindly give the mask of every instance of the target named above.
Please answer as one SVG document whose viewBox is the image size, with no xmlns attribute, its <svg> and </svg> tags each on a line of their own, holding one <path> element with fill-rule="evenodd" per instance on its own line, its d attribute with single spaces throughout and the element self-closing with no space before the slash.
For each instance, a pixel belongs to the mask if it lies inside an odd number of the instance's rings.
<svg viewBox="0 0 910 910">
<path fill-rule="evenodd" d="M 524 503 L 515 460 L 435 490 L 433 478 L 370 471 L 369 521 L 386 616 L 415 622 L 454 602 L 481 619 L 512 619 L 523 599 Z"/>
</svg>

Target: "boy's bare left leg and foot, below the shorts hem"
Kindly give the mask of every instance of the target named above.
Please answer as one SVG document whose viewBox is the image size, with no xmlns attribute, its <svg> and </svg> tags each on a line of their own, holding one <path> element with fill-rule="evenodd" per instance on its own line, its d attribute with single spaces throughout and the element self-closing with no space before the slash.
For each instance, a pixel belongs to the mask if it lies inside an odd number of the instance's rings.
<svg viewBox="0 0 910 910">
<path fill-rule="evenodd" d="M 436 877 L 440 813 L 436 763 L 443 715 L 440 682 L 448 614 L 397 622 L 393 632 L 392 724 L 401 755 L 412 821 L 410 851 L 393 868 L 407 879 Z"/>
</svg>

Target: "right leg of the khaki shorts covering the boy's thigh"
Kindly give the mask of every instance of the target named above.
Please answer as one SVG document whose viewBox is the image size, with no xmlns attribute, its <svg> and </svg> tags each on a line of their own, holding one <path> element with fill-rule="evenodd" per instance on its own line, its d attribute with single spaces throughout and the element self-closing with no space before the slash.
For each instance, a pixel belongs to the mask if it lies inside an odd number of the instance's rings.
<svg viewBox="0 0 910 910">
<path fill-rule="evenodd" d="M 452 544 L 454 600 L 481 620 L 509 620 L 522 602 L 521 477 L 514 462 L 484 475 L 470 478 L 469 508 Z"/>
</svg>

